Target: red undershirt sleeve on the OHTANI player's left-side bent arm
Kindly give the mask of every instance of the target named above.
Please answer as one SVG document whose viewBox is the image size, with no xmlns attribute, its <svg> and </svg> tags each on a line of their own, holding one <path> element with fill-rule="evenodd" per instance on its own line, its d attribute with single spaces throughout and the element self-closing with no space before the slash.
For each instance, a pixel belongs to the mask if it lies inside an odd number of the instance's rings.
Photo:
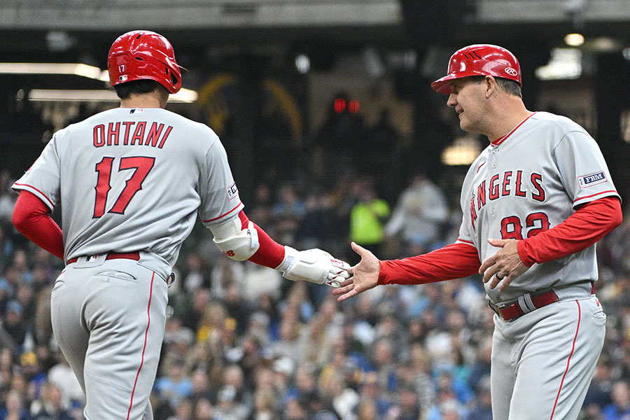
<svg viewBox="0 0 630 420">
<path fill-rule="evenodd" d="M 34 244 L 63 260 L 64 235 L 48 211 L 48 206 L 39 197 L 22 190 L 13 209 L 13 225 Z"/>
</svg>

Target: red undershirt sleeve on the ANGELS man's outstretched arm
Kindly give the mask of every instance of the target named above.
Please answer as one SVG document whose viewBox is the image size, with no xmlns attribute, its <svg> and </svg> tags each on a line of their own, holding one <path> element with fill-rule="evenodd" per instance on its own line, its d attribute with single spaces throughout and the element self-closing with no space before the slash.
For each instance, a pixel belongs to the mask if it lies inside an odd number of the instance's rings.
<svg viewBox="0 0 630 420">
<path fill-rule="evenodd" d="M 477 248 L 458 242 L 415 257 L 381 261 L 379 284 L 423 284 L 461 279 L 477 274 L 480 266 Z"/>
</svg>

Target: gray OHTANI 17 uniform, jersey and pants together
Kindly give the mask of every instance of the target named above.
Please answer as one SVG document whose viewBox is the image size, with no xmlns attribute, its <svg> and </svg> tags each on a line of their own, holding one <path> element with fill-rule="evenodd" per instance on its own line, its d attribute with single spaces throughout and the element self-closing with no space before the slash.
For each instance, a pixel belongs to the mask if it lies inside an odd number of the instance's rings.
<svg viewBox="0 0 630 420">
<path fill-rule="evenodd" d="M 68 265 L 52 289 L 52 329 L 86 418 L 152 419 L 181 244 L 197 213 L 209 225 L 243 208 L 221 141 L 165 109 L 112 109 L 55 133 L 13 188 L 62 204 Z"/>
</svg>

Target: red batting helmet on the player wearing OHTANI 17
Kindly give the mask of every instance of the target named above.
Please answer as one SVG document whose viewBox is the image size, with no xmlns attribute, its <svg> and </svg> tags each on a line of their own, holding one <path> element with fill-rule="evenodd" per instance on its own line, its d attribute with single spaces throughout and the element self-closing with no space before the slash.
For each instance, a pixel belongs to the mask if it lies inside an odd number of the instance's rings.
<svg viewBox="0 0 630 420">
<path fill-rule="evenodd" d="M 181 71 L 169 40 L 151 31 L 131 31 L 114 41 L 107 56 L 109 83 L 151 79 L 171 93 L 181 89 Z"/>
</svg>

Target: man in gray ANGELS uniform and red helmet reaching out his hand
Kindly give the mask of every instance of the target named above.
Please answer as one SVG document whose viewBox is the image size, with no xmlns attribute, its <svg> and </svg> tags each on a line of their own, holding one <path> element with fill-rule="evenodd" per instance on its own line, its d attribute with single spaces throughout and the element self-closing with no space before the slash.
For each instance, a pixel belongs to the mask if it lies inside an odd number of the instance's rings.
<svg viewBox="0 0 630 420">
<path fill-rule="evenodd" d="M 332 293 L 483 274 L 496 312 L 493 419 L 576 419 L 605 334 L 594 244 L 622 221 L 608 167 L 582 127 L 525 108 L 505 48 L 458 50 L 431 86 L 449 95 L 463 130 L 490 140 L 463 181 L 459 237 L 390 261 L 352 244 L 361 260 Z"/>
</svg>

